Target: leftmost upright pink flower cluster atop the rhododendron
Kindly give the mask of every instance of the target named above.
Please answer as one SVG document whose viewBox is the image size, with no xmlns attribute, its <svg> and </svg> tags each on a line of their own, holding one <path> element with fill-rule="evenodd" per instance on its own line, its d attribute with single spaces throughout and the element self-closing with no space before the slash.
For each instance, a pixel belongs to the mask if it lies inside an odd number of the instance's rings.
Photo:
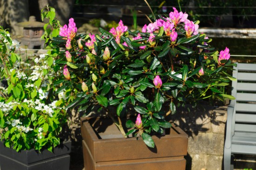
<svg viewBox="0 0 256 170">
<path fill-rule="evenodd" d="M 68 26 L 65 24 L 60 28 L 60 35 L 62 37 L 67 37 L 66 48 L 69 50 L 72 48 L 71 40 L 75 37 L 77 33 L 77 27 L 75 26 L 74 19 L 70 18 Z"/>
</svg>

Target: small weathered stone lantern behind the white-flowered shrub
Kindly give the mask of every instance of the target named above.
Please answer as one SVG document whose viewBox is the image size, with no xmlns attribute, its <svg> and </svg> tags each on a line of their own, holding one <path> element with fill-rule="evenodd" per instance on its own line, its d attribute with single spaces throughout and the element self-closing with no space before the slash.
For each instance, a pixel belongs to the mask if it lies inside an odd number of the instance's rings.
<svg viewBox="0 0 256 170">
<path fill-rule="evenodd" d="M 16 26 L 23 27 L 23 37 L 21 38 L 20 45 L 27 46 L 28 49 L 33 49 L 34 46 L 44 47 L 44 40 L 40 37 L 43 35 L 45 23 L 35 20 L 35 16 L 30 16 L 26 22 L 17 23 Z"/>
</svg>

